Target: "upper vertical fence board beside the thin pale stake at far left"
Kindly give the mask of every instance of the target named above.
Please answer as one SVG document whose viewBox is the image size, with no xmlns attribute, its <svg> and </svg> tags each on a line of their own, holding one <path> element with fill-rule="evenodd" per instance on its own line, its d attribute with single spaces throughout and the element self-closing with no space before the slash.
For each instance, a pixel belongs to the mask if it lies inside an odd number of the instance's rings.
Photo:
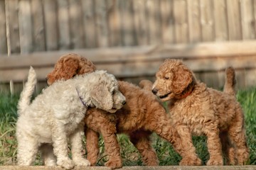
<svg viewBox="0 0 256 170">
<path fill-rule="evenodd" d="M 18 0 L 6 1 L 6 29 L 8 53 L 21 52 L 18 30 Z"/>
</svg>

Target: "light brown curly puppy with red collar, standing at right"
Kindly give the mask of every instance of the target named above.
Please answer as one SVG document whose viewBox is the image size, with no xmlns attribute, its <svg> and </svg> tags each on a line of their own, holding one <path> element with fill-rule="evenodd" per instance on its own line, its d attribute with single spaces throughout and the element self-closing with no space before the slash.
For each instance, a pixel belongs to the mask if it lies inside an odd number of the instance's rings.
<svg viewBox="0 0 256 170">
<path fill-rule="evenodd" d="M 232 72 L 232 68 L 227 70 L 227 74 L 232 75 Z M 245 164 L 249 157 L 244 113 L 234 96 L 235 82 L 232 80 L 228 79 L 230 82 L 225 85 L 225 92 L 210 89 L 199 83 L 181 60 L 166 60 L 156 72 L 152 91 L 162 101 L 171 101 L 172 124 L 189 142 L 187 147 L 194 148 L 192 135 L 208 137 L 210 159 L 207 165 L 223 164 L 221 142 L 223 147 L 228 141 L 234 146 L 223 149 L 228 154 L 229 164 Z"/>
</svg>

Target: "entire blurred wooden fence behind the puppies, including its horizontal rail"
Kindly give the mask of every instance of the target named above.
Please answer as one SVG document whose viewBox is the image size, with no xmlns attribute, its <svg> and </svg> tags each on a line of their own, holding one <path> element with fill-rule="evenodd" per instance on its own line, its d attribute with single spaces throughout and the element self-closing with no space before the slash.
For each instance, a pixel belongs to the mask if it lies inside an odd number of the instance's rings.
<svg viewBox="0 0 256 170">
<path fill-rule="evenodd" d="M 255 0 L 0 0 L 0 85 L 21 91 L 32 65 L 40 90 L 75 52 L 134 84 L 177 58 L 221 89 L 233 66 L 243 89 L 256 85 L 255 38 Z"/>
</svg>

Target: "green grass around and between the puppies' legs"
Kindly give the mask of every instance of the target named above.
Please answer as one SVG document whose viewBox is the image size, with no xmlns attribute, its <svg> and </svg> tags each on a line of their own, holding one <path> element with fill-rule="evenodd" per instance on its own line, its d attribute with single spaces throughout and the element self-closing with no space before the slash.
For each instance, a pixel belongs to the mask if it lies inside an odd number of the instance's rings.
<svg viewBox="0 0 256 170">
<path fill-rule="evenodd" d="M 15 123 L 17 120 L 16 105 L 19 95 L 11 95 L 0 91 L 0 165 L 16 163 L 17 142 L 15 138 Z M 250 160 L 247 164 L 256 164 L 256 88 L 238 91 L 238 101 L 245 111 L 245 126 L 247 142 L 250 147 Z M 121 145 L 121 155 L 124 166 L 142 165 L 142 158 L 137 149 L 126 135 L 117 135 Z M 85 140 L 86 141 L 86 140 Z M 160 165 L 178 165 L 181 157 L 174 152 L 169 142 L 162 140 L 157 135 L 151 136 L 152 146 L 156 149 Z M 193 143 L 199 157 L 206 164 L 209 154 L 206 146 L 206 137 L 193 137 Z M 100 137 L 100 156 L 97 165 L 103 166 L 107 161 L 104 152 L 104 142 Z M 35 164 L 41 164 L 40 159 Z"/>
</svg>

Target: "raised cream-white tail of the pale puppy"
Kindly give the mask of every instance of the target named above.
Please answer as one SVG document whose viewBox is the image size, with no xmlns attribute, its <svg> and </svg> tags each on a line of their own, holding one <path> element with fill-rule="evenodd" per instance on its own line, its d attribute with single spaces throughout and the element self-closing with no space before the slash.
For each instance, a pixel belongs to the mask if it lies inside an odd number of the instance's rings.
<svg viewBox="0 0 256 170">
<path fill-rule="evenodd" d="M 21 91 L 21 98 L 18 101 L 18 115 L 24 113 L 26 108 L 31 103 L 31 96 L 36 86 L 36 72 L 33 67 L 30 67 L 28 72 L 28 81 L 26 82 L 23 91 Z"/>
</svg>

